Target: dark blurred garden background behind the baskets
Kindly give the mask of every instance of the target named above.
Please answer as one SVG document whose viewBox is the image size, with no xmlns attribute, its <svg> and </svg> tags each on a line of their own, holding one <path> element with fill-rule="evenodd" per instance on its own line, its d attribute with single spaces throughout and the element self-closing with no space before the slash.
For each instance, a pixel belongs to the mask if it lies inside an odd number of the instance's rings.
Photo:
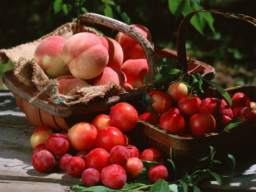
<svg viewBox="0 0 256 192">
<path fill-rule="evenodd" d="M 57 1 L 57 0 L 56 0 Z M 30 42 L 55 30 L 61 24 L 72 22 L 82 11 L 105 14 L 106 2 L 100 0 L 59 0 L 65 9 L 53 9 L 53 0 L 23 0 L 0 2 L 0 49 L 11 48 Z M 176 1 L 176 0 L 175 0 Z M 195 1 L 195 0 L 194 0 Z M 105 3 L 102 3 L 105 2 Z M 175 17 L 168 0 L 116 0 L 115 18 L 123 19 L 124 14 L 130 19 L 128 24 L 142 24 L 150 30 L 154 44 L 176 50 L 176 35 L 182 15 Z M 189 1 L 187 1 L 189 2 Z M 193 2 L 191 0 L 191 2 Z M 197 1 L 205 9 L 222 9 L 256 18 L 255 0 L 215 0 Z M 78 3 L 83 3 L 79 6 Z M 117 6 L 118 5 L 118 6 Z M 79 12 L 81 11 L 81 12 Z M 118 13 L 119 11 L 119 13 Z M 66 14 L 65 14 L 66 13 Z M 193 26 L 187 34 L 187 55 L 204 61 L 216 69 L 216 81 L 223 87 L 255 84 L 256 79 L 256 28 L 247 22 L 212 15 L 216 34 L 208 26 L 201 35 Z M 128 20 L 129 21 L 129 20 Z M 100 30 L 110 37 L 117 32 L 107 28 Z M 0 76 L 14 64 L 0 62 Z M 6 89 L 0 81 L 0 89 Z"/>
</svg>

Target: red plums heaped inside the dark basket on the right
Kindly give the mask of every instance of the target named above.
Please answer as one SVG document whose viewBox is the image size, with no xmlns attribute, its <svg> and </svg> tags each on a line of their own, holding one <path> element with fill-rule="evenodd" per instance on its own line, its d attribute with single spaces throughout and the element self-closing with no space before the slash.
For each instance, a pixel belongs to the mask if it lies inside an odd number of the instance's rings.
<svg viewBox="0 0 256 192">
<path fill-rule="evenodd" d="M 174 82 L 166 92 L 153 90 L 148 95 L 152 99 L 151 110 L 140 119 L 175 135 L 192 137 L 220 132 L 234 118 L 244 120 L 240 126 L 256 123 L 256 103 L 244 93 L 229 94 L 229 103 L 220 92 L 208 88 L 201 99 L 188 94 L 182 82 Z"/>
</svg>

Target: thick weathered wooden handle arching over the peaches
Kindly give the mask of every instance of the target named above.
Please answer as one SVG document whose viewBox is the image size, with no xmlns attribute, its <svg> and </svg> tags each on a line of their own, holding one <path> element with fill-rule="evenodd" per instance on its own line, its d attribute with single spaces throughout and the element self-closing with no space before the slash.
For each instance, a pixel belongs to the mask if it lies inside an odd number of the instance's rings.
<svg viewBox="0 0 256 192">
<path fill-rule="evenodd" d="M 120 22 L 119 20 L 115 20 L 112 18 L 109 18 L 104 15 L 95 14 L 92 12 L 82 14 L 77 19 L 77 26 L 74 31 L 74 34 L 76 34 L 76 30 L 79 30 L 80 27 L 84 26 L 84 24 L 88 23 L 97 23 L 101 24 L 102 26 L 106 26 L 109 28 L 112 28 L 113 30 L 122 32 L 123 34 L 131 37 L 139 45 L 141 45 L 147 59 L 148 64 L 148 74 L 149 74 L 149 83 L 154 87 L 155 83 L 153 82 L 153 78 L 159 74 L 158 68 L 155 68 L 156 63 L 156 57 L 155 57 L 155 51 L 152 47 L 150 41 L 146 39 L 136 28 L 129 26 L 128 24 L 125 24 L 123 22 Z"/>
</svg>

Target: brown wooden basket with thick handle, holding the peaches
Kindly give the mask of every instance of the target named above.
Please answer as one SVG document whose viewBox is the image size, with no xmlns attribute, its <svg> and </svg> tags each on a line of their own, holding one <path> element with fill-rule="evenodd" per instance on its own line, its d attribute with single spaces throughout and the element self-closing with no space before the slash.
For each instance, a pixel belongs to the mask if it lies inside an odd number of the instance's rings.
<svg viewBox="0 0 256 192">
<path fill-rule="evenodd" d="M 188 69 L 193 69 L 195 66 L 200 65 L 196 72 L 200 72 L 202 76 L 208 80 L 211 80 L 214 77 L 215 72 L 212 66 L 197 60 L 190 62 L 192 60 L 191 58 L 188 58 L 186 55 L 182 56 L 176 51 L 172 51 L 170 49 L 160 47 L 152 48 L 150 42 L 135 28 L 106 16 L 93 13 L 81 15 L 81 17 L 77 19 L 76 27 L 73 29 L 73 34 L 79 32 L 80 28 L 84 26 L 84 23 L 86 22 L 98 23 L 103 26 L 113 28 L 114 30 L 123 32 L 137 41 L 146 54 L 150 74 L 149 82 L 152 85 L 154 85 L 154 76 L 158 74 L 158 69 L 154 67 L 156 62 L 155 55 L 174 60 L 179 60 L 179 57 L 185 57 L 185 72 L 187 72 Z M 26 118 L 32 126 L 39 127 L 47 125 L 55 128 L 56 130 L 68 130 L 68 128 L 78 122 L 90 122 L 98 114 L 108 114 L 110 108 L 119 102 L 128 102 L 135 107 L 140 107 L 141 103 L 139 101 L 141 101 L 143 91 L 146 89 L 146 86 L 143 86 L 116 97 L 89 101 L 86 105 L 80 104 L 65 106 L 51 102 L 46 94 L 39 94 L 35 97 L 38 90 L 34 87 L 29 87 L 20 83 L 14 75 L 13 70 L 4 73 L 2 80 L 13 92 L 18 107 L 24 112 L 24 114 L 26 114 Z"/>
</svg>

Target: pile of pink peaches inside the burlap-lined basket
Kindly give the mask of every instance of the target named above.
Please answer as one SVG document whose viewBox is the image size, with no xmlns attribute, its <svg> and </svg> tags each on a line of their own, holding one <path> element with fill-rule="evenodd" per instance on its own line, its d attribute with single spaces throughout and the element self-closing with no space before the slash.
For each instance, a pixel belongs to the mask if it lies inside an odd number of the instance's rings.
<svg viewBox="0 0 256 192">
<path fill-rule="evenodd" d="M 146 27 L 131 26 L 151 42 Z M 56 78 L 60 94 L 68 94 L 76 87 L 105 85 L 110 81 L 128 91 L 143 86 L 143 78 L 148 72 L 143 49 L 122 32 L 118 32 L 115 39 L 90 32 L 81 32 L 69 39 L 49 36 L 36 47 L 34 61 L 50 78 Z"/>
</svg>

